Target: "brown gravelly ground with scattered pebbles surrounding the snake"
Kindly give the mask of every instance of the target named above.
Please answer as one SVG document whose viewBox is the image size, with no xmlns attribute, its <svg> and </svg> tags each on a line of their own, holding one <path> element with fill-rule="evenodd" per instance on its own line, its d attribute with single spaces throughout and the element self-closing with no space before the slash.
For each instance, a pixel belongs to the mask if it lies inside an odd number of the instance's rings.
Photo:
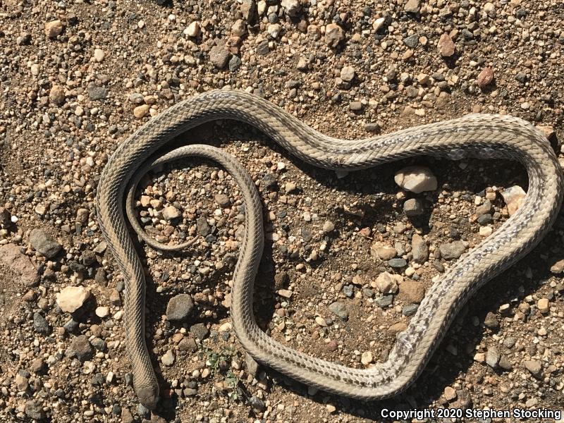
<svg viewBox="0 0 564 423">
<path fill-rule="evenodd" d="M 0 0 L 2 421 L 367 422 L 383 408 L 562 407 L 564 217 L 470 300 L 406 393 L 362 403 L 257 366 L 240 348 L 228 307 L 244 207 L 231 177 L 197 160 L 150 173 L 136 195 L 153 238 L 197 240 L 178 253 L 140 245 L 164 398 L 156 412 L 137 403 L 123 279 L 94 197 L 111 152 L 168 106 L 247 90 L 348 138 L 512 114 L 560 152 L 560 0 L 363 3 Z M 224 147 L 257 182 L 266 222 L 260 326 L 359 368 L 386 359 L 434 278 L 527 190 L 509 162 L 422 157 L 323 171 L 229 121 L 178 142 Z"/>
</svg>

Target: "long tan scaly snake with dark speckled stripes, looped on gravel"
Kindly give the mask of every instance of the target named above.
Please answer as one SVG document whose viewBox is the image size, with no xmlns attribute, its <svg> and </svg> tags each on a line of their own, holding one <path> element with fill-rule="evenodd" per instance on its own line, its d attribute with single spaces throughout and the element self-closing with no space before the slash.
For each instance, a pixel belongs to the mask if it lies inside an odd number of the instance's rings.
<svg viewBox="0 0 564 423">
<path fill-rule="evenodd" d="M 296 159 L 335 171 L 357 171 L 419 156 L 515 161 L 527 171 L 527 193 L 517 212 L 434 279 L 407 328 L 396 334 L 386 361 L 366 368 L 347 367 L 279 343 L 258 326 L 252 297 L 264 246 L 262 202 L 245 168 L 212 145 L 187 142 L 166 152 L 178 135 L 218 120 L 252 125 Z M 550 142 L 534 125 L 514 116 L 469 114 L 360 140 L 341 140 L 319 133 L 268 99 L 245 91 L 210 90 L 178 102 L 118 145 L 96 188 L 99 227 L 125 283 L 123 324 L 133 390 L 149 409 L 159 401 L 159 383 L 145 338 L 145 272 L 127 222 L 135 226 L 132 198 L 140 175 L 180 157 L 215 161 L 240 187 L 245 231 L 231 288 L 231 325 L 240 345 L 266 367 L 318 390 L 358 400 L 391 398 L 418 378 L 462 305 L 550 231 L 564 192 L 563 172 Z M 140 232 L 138 223 L 135 231 Z M 152 245 L 166 249 L 156 241 Z"/>
</svg>

